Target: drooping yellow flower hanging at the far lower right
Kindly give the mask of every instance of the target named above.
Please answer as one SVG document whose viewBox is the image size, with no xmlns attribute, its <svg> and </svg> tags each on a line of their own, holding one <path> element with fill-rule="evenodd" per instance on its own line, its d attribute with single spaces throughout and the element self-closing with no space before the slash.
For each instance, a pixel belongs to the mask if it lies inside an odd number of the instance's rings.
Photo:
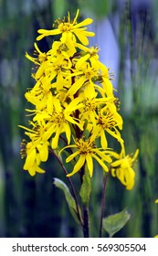
<svg viewBox="0 0 158 256">
<path fill-rule="evenodd" d="M 133 156 L 125 155 L 124 150 L 122 150 L 121 155 L 118 155 L 119 159 L 111 164 L 111 175 L 117 176 L 128 190 L 132 190 L 134 186 L 135 173 L 132 165 L 138 154 L 138 149 Z"/>
</svg>

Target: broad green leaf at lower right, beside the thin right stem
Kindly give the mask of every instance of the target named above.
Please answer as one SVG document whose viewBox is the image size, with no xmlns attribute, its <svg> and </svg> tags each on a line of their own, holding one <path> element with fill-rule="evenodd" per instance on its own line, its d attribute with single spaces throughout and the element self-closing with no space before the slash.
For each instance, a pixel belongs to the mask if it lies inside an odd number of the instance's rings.
<svg viewBox="0 0 158 256">
<path fill-rule="evenodd" d="M 127 221 L 131 218 L 131 214 L 123 209 L 121 212 L 110 215 L 107 218 L 103 219 L 103 229 L 105 229 L 110 237 L 112 237 L 116 232 L 122 229 Z"/>
</svg>

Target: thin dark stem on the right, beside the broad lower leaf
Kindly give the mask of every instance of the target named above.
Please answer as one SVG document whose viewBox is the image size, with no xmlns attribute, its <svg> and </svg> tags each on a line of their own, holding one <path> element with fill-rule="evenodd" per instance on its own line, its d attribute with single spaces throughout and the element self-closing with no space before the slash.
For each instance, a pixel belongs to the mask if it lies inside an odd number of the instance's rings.
<svg viewBox="0 0 158 256">
<path fill-rule="evenodd" d="M 108 173 L 108 175 L 104 176 L 104 178 L 103 178 L 101 213 L 100 213 L 100 238 L 102 237 L 102 221 L 103 221 L 103 218 L 104 218 L 104 211 L 105 211 L 105 191 L 106 191 L 107 181 L 108 181 L 109 175 L 110 175 L 110 172 Z"/>
</svg>

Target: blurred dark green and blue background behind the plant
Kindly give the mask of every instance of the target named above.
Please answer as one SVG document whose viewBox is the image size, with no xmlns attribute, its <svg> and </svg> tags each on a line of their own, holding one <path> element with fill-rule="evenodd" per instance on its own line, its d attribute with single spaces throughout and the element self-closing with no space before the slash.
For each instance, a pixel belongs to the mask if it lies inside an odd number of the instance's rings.
<svg viewBox="0 0 158 256">
<path fill-rule="evenodd" d="M 52 184 L 54 176 L 63 179 L 55 159 L 48 161 L 45 175 L 31 177 L 23 171 L 19 150 L 24 131 L 17 127 L 27 122 L 24 93 L 34 84 L 25 52 L 32 55 L 38 28 L 50 29 L 53 21 L 67 16 L 68 11 L 75 16 L 77 8 L 80 18 L 93 17 L 96 35 L 103 21 L 110 24 L 119 55 L 113 57 L 111 37 L 104 27 L 97 43 L 106 50 L 109 42 L 110 60 L 117 63 L 115 85 L 127 154 L 140 149 L 135 187 L 127 191 L 111 178 L 105 215 L 125 207 L 132 214 L 115 237 L 153 237 L 158 233 L 158 207 L 154 204 L 158 197 L 158 2 L 0 0 L 0 237 L 82 236 L 62 191 Z M 48 44 L 44 39 L 38 45 L 45 51 Z M 100 172 L 95 172 L 90 201 L 93 237 L 98 236 L 101 184 Z"/>
</svg>

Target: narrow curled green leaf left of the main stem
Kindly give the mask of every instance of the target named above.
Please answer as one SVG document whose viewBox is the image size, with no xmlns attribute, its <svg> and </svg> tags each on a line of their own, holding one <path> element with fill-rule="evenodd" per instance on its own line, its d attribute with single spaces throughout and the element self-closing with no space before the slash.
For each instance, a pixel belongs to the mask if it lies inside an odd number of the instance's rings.
<svg viewBox="0 0 158 256">
<path fill-rule="evenodd" d="M 74 197 L 72 197 L 72 195 L 69 192 L 68 186 L 59 178 L 55 177 L 54 178 L 54 182 L 53 184 L 60 188 L 61 190 L 63 190 L 64 195 L 66 197 L 66 201 L 68 203 L 68 208 L 70 210 L 71 215 L 73 216 L 73 218 L 78 222 L 79 222 L 79 216 L 78 216 L 78 211 L 77 211 L 77 206 L 76 206 L 76 202 Z M 81 213 L 81 210 L 79 208 L 79 213 Z M 80 214 L 81 217 L 81 214 Z"/>
</svg>

